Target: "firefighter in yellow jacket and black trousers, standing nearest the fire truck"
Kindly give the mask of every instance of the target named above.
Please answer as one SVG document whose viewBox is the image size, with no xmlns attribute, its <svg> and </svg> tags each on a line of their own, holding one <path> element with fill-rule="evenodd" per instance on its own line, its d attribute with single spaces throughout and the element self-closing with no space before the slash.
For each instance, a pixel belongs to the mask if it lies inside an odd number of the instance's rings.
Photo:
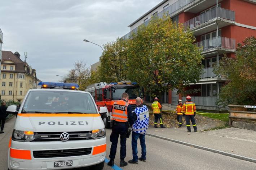
<svg viewBox="0 0 256 170">
<path fill-rule="evenodd" d="M 163 119 L 162 119 L 162 115 L 161 115 L 162 105 L 158 102 L 157 97 L 154 98 L 154 102 L 152 103 L 151 107 L 152 107 L 152 110 L 153 110 L 153 114 L 155 116 L 155 121 L 154 121 L 155 128 L 158 128 L 157 127 L 158 119 L 160 121 L 160 127 L 165 128 L 165 126 L 163 125 Z"/>
</svg>

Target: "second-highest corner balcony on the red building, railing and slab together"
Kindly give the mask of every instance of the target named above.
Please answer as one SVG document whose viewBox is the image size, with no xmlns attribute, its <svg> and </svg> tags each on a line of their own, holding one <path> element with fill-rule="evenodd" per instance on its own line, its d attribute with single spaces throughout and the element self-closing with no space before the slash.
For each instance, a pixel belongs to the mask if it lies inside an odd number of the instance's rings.
<svg viewBox="0 0 256 170">
<path fill-rule="evenodd" d="M 202 48 L 202 54 L 213 54 L 215 51 L 219 51 L 219 54 L 235 52 L 235 39 L 226 37 L 213 37 L 204 41 L 194 43 L 194 45 Z"/>
</svg>

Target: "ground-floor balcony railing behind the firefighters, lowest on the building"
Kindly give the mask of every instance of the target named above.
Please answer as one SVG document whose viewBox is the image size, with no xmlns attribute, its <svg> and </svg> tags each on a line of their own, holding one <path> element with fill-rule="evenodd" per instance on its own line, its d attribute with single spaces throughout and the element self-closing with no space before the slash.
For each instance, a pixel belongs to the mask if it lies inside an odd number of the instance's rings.
<svg viewBox="0 0 256 170">
<path fill-rule="evenodd" d="M 196 106 L 221 107 L 216 105 L 218 98 L 217 96 L 191 96 L 191 101 Z M 186 97 L 182 97 L 182 101 L 186 101 Z"/>
</svg>

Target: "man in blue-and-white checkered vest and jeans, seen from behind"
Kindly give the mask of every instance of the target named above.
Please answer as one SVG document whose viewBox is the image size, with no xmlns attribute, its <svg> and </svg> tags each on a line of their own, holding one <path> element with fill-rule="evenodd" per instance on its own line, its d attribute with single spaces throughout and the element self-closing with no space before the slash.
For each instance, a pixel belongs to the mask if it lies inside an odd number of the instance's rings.
<svg viewBox="0 0 256 170">
<path fill-rule="evenodd" d="M 136 109 L 133 113 L 135 114 L 135 123 L 132 125 L 132 160 L 129 160 L 129 164 L 138 164 L 138 160 L 146 161 L 146 143 L 145 143 L 145 134 L 146 130 L 149 127 L 149 110 L 147 106 L 142 105 L 142 100 L 140 97 L 136 98 Z M 140 138 L 141 144 L 141 157 L 138 158 L 138 148 L 137 141 Z"/>
</svg>

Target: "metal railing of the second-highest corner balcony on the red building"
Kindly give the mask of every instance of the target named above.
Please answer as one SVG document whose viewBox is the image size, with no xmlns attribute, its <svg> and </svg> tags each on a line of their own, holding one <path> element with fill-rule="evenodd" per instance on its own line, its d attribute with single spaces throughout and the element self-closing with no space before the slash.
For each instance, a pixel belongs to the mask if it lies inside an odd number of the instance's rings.
<svg viewBox="0 0 256 170">
<path fill-rule="evenodd" d="M 194 43 L 203 50 L 213 49 L 215 47 L 223 47 L 227 49 L 235 49 L 235 39 L 226 37 L 213 37 L 204 41 Z"/>
</svg>

